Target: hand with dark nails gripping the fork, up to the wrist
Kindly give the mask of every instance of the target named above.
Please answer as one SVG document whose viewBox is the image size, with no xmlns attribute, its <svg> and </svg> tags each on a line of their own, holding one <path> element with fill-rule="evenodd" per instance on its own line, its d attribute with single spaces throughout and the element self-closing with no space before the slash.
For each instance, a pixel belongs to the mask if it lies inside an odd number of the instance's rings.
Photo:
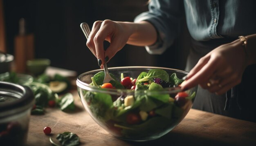
<svg viewBox="0 0 256 146">
<path fill-rule="evenodd" d="M 98 59 L 99 66 L 111 59 L 121 50 L 131 35 L 130 27 L 124 23 L 111 20 L 96 21 L 88 37 L 86 45 Z M 107 40 L 110 46 L 104 51 L 103 42 Z"/>
</svg>

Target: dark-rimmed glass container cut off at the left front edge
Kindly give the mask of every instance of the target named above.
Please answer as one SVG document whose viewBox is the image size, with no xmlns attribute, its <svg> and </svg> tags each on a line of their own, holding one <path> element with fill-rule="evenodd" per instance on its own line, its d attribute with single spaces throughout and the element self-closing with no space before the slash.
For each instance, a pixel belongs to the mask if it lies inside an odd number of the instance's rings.
<svg viewBox="0 0 256 146">
<path fill-rule="evenodd" d="M 25 145 L 33 105 L 29 87 L 0 82 L 0 145 Z"/>
</svg>

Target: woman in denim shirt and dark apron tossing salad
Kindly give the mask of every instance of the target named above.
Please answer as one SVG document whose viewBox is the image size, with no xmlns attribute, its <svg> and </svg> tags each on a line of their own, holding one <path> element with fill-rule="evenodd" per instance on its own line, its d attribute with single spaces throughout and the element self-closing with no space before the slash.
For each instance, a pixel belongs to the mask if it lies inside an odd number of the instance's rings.
<svg viewBox="0 0 256 146">
<path fill-rule="evenodd" d="M 254 0 L 152 0 L 134 22 L 94 22 L 87 46 L 99 66 L 125 44 L 161 54 L 179 34 L 185 14 L 192 46 L 182 90 L 200 85 L 193 108 L 256 122 L 255 5 Z M 110 42 L 106 51 L 104 40 Z"/>
</svg>

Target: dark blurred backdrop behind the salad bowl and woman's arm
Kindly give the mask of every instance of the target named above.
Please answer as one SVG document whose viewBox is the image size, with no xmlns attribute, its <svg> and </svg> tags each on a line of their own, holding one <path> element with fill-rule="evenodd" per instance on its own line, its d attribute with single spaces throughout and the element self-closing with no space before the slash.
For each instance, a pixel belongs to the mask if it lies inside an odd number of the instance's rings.
<svg viewBox="0 0 256 146">
<path fill-rule="evenodd" d="M 81 22 L 90 27 L 97 20 L 132 22 L 148 11 L 148 0 L 4 0 L 7 53 L 14 54 L 18 22 L 25 18 L 27 33 L 35 36 L 35 58 L 49 58 L 51 66 L 83 73 L 99 69 L 97 59 L 86 46 Z M 179 38 L 162 55 L 150 55 L 144 47 L 126 45 L 108 63 L 115 66 L 162 66 L 184 69 L 189 34 L 184 17 Z"/>
</svg>

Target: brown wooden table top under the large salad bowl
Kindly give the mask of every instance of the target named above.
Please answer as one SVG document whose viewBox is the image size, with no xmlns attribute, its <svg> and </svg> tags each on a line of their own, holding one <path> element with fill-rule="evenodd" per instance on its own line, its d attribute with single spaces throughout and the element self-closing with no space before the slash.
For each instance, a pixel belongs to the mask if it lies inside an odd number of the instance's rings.
<svg viewBox="0 0 256 146">
<path fill-rule="evenodd" d="M 72 92 L 77 107 L 74 113 L 64 113 L 58 108 L 47 108 L 45 115 L 31 115 L 28 146 L 49 146 L 49 137 L 55 142 L 58 133 L 76 133 L 81 145 L 252 145 L 256 146 L 256 123 L 191 109 L 183 121 L 163 137 L 149 142 L 128 142 L 118 139 L 98 126 L 85 111 L 79 95 Z M 159 123 L 160 124 L 160 123 Z M 45 135 L 43 128 L 52 128 L 52 135 Z"/>
</svg>

